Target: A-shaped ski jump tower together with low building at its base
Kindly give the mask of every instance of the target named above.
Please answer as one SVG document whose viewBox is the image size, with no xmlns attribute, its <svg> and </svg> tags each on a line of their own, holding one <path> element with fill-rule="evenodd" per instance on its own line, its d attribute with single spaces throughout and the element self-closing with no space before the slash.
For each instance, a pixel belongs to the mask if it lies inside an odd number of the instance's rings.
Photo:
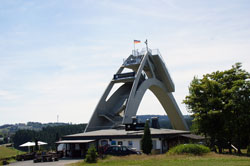
<svg viewBox="0 0 250 166">
<path fill-rule="evenodd" d="M 130 72 L 123 72 L 130 69 Z M 115 84 L 122 85 L 111 93 Z M 158 50 L 133 51 L 114 74 L 101 97 L 85 132 L 66 135 L 57 144 L 64 145 L 66 157 L 85 157 L 94 145 L 99 153 L 106 146 L 126 146 L 141 151 L 140 140 L 144 126 L 138 124 L 137 109 L 146 90 L 151 90 L 160 101 L 173 129 L 159 128 L 157 117 L 151 120 L 152 153 L 165 153 L 169 148 L 190 142 L 200 142 L 203 137 L 188 130 L 182 113 L 172 95 L 174 83 Z"/>
</svg>

